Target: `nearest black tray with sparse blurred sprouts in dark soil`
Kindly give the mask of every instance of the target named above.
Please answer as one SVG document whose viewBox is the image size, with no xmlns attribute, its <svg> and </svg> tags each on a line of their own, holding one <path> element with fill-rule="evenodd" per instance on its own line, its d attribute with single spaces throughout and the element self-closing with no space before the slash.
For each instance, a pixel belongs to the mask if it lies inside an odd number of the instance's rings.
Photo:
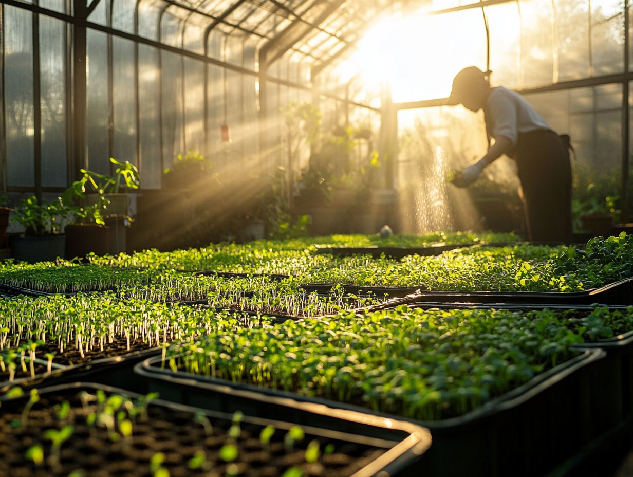
<svg viewBox="0 0 633 477">
<path fill-rule="evenodd" d="M 220 475 L 280 476 L 296 467 L 292 475 L 389 476 L 410 466 L 430 445 L 426 429 L 365 414 L 334 413 L 395 438 L 225 414 L 92 383 L 1 400 L 0 473 L 19 469 L 21 474 L 66 476 L 84 469 L 191 476 L 213 468 Z"/>
</svg>

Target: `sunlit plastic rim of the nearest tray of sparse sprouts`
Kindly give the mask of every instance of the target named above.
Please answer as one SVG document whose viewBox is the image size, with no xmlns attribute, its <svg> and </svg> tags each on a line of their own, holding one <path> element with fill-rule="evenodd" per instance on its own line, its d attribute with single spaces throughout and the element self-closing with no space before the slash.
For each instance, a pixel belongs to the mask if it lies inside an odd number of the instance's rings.
<svg viewBox="0 0 633 477">
<path fill-rule="evenodd" d="M 80 390 L 96 391 L 103 390 L 108 393 L 116 393 L 119 395 L 125 395 L 130 398 L 139 398 L 141 395 L 132 393 L 128 390 L 112 386 L 103 386 L 97 383 L 73 383 L 70 385 L 57 385 L 48 388 L 43 388 L 38 391 L 39 395 L 47 394 L 63 394 L 77 393 Z M 28 399 L 28 394 L 21 397 L 0 397 L 0 402 L 3 404 L 3 409 L 11 409 L 15 406 L 21 406 Z M 178 404 L 169 402 L 163 397 L 151 401 L 150 406 L 168 407 L 174 410 L 180 410 L 183 412 L 190 412 L 191 414 L 197 414 L 202 412 L 208 417 L 215 419 L 225 419 L 231 421 L 232 412 L 226 413 L 217 410 L 209 410 L 208 408 L 197 408 L 189 405 Z M 320 414 L 323 412 L 322 407 L 313 405 L 314 414 Z M 239 410 L 239 409 L 236 409 Z M 330 410 L 329 410 L 330 411 Z M 352 428 L 367 431 L 365 433 L 345 432 L 338 430 L 323 429 L 320 426 L 305 426 L 303 423 L 293 422 L 291 419 L 287 419 L 289 416 L 284 416 L 284 419 L 276 419 L 275 417 L 260 417 L 251 416 L 244 412 L 244 417 L 241 422 L 256 424 L 258 426 L 272 425 L 275 429 L 289 429 L 294 424 L 301 424 L 306 438 L 324 438 L 337 440 L 339 442 L 358 443 L 368 447 L 384 448 L 386 452 L 375 461 L 370 462 L 367 466 L 363 467 L 360 471 L 354 474 L 354 477 L 370 477 L 370 476 L 395 476 L 401 473 L 402 469 L 410 467 L 413 462 L 420 459 L 420 456 L 429 448 L 431 438 L 427 429 L 420 428 L 414 424 L 404 421 L 393 421 L 392 419 L 384 419 L 382 417 L 370 416 L 364 413 L 358 413 L 345 410 L 334 410 L 329 412 L 327 418 L 334 419 L 341 423 L 342 428 Z M 387 435 L 387 436 L 385 436 Z"/>
</svg>

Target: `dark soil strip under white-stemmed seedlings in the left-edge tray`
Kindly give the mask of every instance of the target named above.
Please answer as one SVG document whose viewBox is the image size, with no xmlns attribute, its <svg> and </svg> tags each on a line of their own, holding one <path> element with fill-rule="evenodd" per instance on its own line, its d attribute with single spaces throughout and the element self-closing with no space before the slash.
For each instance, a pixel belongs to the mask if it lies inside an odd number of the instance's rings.
<svg viewBox="0 0 633 477">
<path fill-rule="evenodd" d="M 147 343 L 142 340 L 130 340 L 130 350 L 127 349 L 127 340 L 125 337 L 123 338 L 115 338 L 115 340 L 108 344 L 106 343 L 103 347 L 103 352 L 99 349 L 99 347 L 92 348 L 89 351 L 84 350 L 84 357 L 82 358 L 79 350 L 75 347 L 75 345 L 71 345 L 69 347 L 64 348 L 64 352 L 60 353 L 60 348 L 53 343 L 46 343 L 37 347 L 35 350 L 35 357 L 37 359 L 46 361 L 46 353 L 55 353 L 55 357 L 53 359 L 54 364 L 63 364 L 65 366 L 72 366 L 73 364 L 82 364 L 88 361 L 102 359 L 102 358 L 112 358 L 115 356 L 125 355 L 127 353 L 132 353 L 135 351 L 143 351 L 147 350 L 149 347 Z M 28 355 L 27 355 L 28 356 Z M 22 370 L 22 366 L 20 366 L 20 362 L 18 359 L 18 367 L 15 370 L 15 379 L 19 378 L 30 378 L 30 368 L 28 362 L 26 362 L 27 372 Z M 53 368 L 54 371 L 54 368 Z M 35 364 L 35 375 L 46 373 L 46 364 Z M 9 380 L 9 372 L 1 372 L 0 371 L 0 383 L 3 381 Z"/>
</svg>

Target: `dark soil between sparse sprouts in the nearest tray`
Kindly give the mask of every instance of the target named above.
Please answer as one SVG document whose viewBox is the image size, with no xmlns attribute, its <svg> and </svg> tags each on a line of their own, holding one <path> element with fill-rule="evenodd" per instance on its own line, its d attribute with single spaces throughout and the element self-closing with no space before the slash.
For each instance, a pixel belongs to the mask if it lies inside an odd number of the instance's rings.
<svg viewBox="0 0 633 477">
<path fill-rule="evenodd" d="M 90 391 L 94 395 L 94 391 Z M 55 405 L 70 402 L 71 410 L 63 420 L 58 417 Z M 171 477 L 204 475 L 224 477 L 240 475 L 248 477 L 281 476 L 289 467 L 299 466 L 304 477 L 350 476 L 379 455 L 385 449 L 357 443 L 342 442 L 325 436 L 307 435 L 294 443 L 287 452 L 284 446 L 284 429 L 277 429 L 268 445 L 261 445 L 262 426 L 242 422 L 237 440 L 228 436 L 230 421 L 209 417 L 213 430 L 206 435 L 204 426 L 194 414 L 150 405 L 147 419 L 138 415 L 133 424 L 132 435 L 118 438 L 101 426 L 88 426 L 86 418 L 97 411 L 94 403 L 82 405 L 80 391 L 76 388 L 61 391 L 56 395 L 43 395 L 30 412 L 25 423 L 21 403 L 3 403 L 0 416 L 0 475 L 8 477 L 67 476 L 76 469 L 84 469 L 91 477 L 150 477 L 153 455 L 165 454 L 162 466 Z M 58 407 L 59 409 L 59 407 Z M 123 408 L 120 408 L 123 409 Z M 123 418 L 128 418 L 124 411 Z M 60 464 L 51 461 L 51 442 L 43 435 L 47 429 L 73 426 L 70 438 L 61 445 Z M 114 438 L 113 438 L 114 437 Z M 322 455 L 318 462 L 305 461 L 305 449 L 313 440 L 318 440 Z M 219 456 L 219 450 L 227 443 L 238 448 L 238 457 L 228 464 Z M 329 444 L 334 452 L 325 454 Z M 41 445 L 44 462 L 35 466 L 25 458 L 25 452 L 33 445 Z M 189 460 L 196 452 L 203 451 L 206 459 L 204 469 L 190 469 Z"/>
</svg>

